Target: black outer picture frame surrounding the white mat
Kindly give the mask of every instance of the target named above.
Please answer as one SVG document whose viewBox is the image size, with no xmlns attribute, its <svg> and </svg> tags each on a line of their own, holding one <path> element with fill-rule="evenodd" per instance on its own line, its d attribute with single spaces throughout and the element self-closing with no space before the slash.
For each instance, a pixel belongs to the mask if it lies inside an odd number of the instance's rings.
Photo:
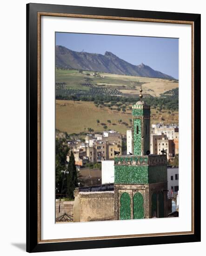
<svg viewBox="0 0 206 256">
<path fill-rule="evenodd" d="M 70 13 L 193 23 L 193 234 L 127 237 L 69 242 L 38 239 L 38 13 Z M 27 252 L 123 247 L 200 241 L 200 14 L 169 13 L 99 7 L 27 4 Z"/>
</svg>

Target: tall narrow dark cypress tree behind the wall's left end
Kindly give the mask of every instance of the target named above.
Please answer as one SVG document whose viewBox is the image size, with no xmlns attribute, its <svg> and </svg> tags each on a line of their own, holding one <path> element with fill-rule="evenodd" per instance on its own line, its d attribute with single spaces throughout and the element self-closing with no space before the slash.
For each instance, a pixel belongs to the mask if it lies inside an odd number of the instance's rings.
<svg viewBox="0 0 206 256">
<path fill-rule="evenodd" d="M 68 175 L 67 175 L 67 196 L 70 199 L 73 199 L 73 191 L 75 188 L 78 187 L 78 180 L 77 180 L 77 169 L 75 165 L 73 151 L 71 151 L 71 155 L 69 157 L 69 164 L 68 164 Z"/>
</svg>

